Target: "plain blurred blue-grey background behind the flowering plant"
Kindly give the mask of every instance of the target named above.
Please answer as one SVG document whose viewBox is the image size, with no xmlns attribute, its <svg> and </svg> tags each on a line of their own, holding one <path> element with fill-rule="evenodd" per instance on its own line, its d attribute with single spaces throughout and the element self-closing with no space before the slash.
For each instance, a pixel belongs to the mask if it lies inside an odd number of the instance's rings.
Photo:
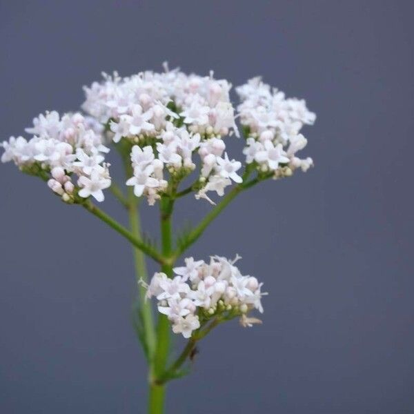
<svg viewBox="0 0 414 414">
<path fill-rule="evenodd" d="M 168 413 L 414 412 L 410 3 L 1 0 L 3 139 L 78 108 L 101 70 L 164 59 L 236 85 L 262 74 L 317 112 L 316 167 L 239 197 L 191 251 L 240 253 L 270 295 L 263 326 L 204 340 Z M 128 244 L 11 164 L 0 187 L 1 413 L 144 413 Z M 209 208 L 182 201 L 176 223 Z"/>
</svg>

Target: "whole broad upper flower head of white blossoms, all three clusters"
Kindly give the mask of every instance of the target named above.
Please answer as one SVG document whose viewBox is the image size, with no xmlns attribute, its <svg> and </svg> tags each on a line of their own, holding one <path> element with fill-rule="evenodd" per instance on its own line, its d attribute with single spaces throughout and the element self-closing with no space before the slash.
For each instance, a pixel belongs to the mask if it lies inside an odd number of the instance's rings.
<svg viewBox="0 0 414 414">
<path fill-rule="evenodd" d="M 82 108 L 90 117 L 39 115 L 27 129 L 34 137 L 11 137 L 1 144 L 2 161 L 13 160 L 21 170 L 48 179 L 65 201 L 78 196 L 102 201 L 102 190 L 111 183 L 103 157 L 108 152 L 103 135 L 108 135 L 122 157 L 130 154 L 132 177 L 126 184 L 137 197 L 153 205 L 163 194 L 179 193 L 180 182 L 193 174 L 183 193 L 193 191 L 196 199 L 215 204 L 209 192 L 221 197 L 226 187 L 243 181 L 242 163 L 228 156 L 223 139 L 239 136 L 239 117 L 246 138 L 245 177 L 255 169 L 259 179 L 286 177 L 313 165 L 311 158 L 296 155 L 307 144 L 302 126 L 315 121 L 305 101 L 286 99 L 254 78 L 236 88 L 242 102 L 235 114 L 225 79 L 214 79 L 213 72 L 201 77 L 165 69 L 130 77 L 103 74 L 103 81 L 84 88 Z"/>
</svg>

